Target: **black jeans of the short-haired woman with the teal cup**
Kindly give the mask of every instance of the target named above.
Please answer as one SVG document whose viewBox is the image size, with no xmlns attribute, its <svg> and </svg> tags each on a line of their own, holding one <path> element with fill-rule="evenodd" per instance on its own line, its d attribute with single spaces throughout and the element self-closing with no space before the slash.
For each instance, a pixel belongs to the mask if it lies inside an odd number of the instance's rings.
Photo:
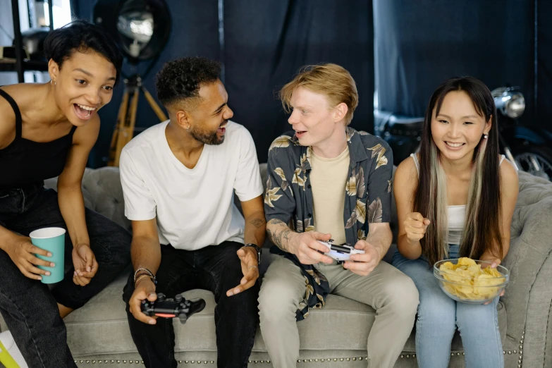
<svg viewBox="0 0 552 368">
<path fill-rule="evenodd" d="M 37 228 L 66 228 L 56 191 L 42 185 L 0 191 L 0 225 L 22 235 Z M 56 302 L 73 309 L 82 307 L 130 263 L 128 231 L 90 209 L 86 209 L 86 225 L 98 262 L 97 274 L 87 286 L 73 283 L 73 246 L 68 233 L 65 264 L 70 269 L 51 291 L 46 284 L 23 276 L 0 250 L 0 313 L 29 367 L 76 367 Z"/>
</svg>

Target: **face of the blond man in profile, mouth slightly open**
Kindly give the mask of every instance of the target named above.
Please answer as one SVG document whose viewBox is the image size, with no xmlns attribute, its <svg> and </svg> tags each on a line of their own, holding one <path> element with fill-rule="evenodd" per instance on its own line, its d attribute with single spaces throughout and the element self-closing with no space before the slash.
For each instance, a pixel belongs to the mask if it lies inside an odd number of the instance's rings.
<svg viewBox="0 0 552 368">
<path fill-rule="evenodd" d="M 302 146 L 317 147 L 329 140 L 340 127 L 336 124 L 335 111 L 324 94 L 297 87 L 293 90 L 290 107 L 293 111 L 288 122 Z M 341 124 L 341 129 L 344 127 Z"/>
</svg>

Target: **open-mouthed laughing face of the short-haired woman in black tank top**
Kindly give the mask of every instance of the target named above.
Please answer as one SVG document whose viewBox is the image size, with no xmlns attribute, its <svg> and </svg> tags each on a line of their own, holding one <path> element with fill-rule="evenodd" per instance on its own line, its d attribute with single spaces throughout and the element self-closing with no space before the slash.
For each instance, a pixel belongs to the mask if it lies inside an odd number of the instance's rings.
<svg viewBox="0 0 552 368">
<path fill-rule="evenodd" d="M 48 66 L 56 104 L 71 124 L 86 125 L 111 101 L 116 68 L 101 54 L 75 51 L 61 69 L 53 60 Z"/>
</svg>

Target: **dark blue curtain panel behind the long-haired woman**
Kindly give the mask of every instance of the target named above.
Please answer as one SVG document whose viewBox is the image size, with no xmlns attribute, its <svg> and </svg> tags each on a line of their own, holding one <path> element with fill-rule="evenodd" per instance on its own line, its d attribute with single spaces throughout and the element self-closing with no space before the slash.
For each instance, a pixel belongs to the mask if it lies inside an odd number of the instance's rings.
<svg viewBox="0 0 552 368">
<path fill-rule="evenodd" d="M 534 0 L 374 0 L 379 109 L 424 116 L 441 82 L 472 75 L 491 90 L 519 86 L 532 123 L 534 20 Z"/>
</svg>

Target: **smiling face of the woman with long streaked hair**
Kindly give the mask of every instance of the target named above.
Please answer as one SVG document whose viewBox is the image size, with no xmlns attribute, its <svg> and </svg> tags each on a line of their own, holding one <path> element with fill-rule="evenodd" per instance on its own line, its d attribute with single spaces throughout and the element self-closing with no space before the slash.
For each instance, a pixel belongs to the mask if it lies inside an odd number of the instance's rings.
<svg viewBox="0 0 552 368">
<path fill-rule="evenodd" d="M 491 119 L 480 116 L 472 99 L 463 91 L 448 92 L 439 114 L 434 108 L 431 136 L 441 154 L 450 161 L 473 157 L 475 147 L 491 130 Z"/>
</svg>

